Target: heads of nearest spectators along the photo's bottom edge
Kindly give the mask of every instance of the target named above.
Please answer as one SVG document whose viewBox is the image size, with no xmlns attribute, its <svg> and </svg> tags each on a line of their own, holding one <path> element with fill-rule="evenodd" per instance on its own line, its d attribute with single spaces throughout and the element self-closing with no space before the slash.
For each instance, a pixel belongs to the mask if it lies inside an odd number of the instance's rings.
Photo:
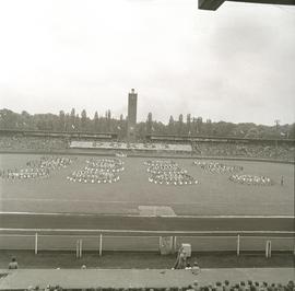
<svg viewBox="0 0 295 291">
<path fill-rule="evenodd" d="M 62 289 L 60 286 L 48 286 L 45 289 L 39 287 L 30 287 L 25 291 L 70 291 L 71 289 Z M 73 289 L 76 290 L 76 289 Z M 194 280 L 188 287 L 175 287 L 175 288 L 85 288 L 79 289 L 81 291 L 295 291 L 294 281 L 290 280 L 287 283 L 269 283 L 259 281 L 240 281 L 229 282 L 225 280 L 223 282 L 217 281 L 211 284 L 200 284 L 198 280 Z"/>
</svg>

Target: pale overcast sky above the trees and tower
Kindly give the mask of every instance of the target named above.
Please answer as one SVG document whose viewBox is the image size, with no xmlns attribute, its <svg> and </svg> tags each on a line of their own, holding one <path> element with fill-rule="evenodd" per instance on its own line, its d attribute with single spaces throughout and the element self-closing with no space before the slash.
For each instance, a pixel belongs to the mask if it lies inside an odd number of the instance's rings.
<svg viewBox="0 0 295 291">
<path fill-rule="evenodd" d="M 0 107 L 167 123 L 295 119 L 295 7 L 198 0 L 0 1 Z"/>
</svg>

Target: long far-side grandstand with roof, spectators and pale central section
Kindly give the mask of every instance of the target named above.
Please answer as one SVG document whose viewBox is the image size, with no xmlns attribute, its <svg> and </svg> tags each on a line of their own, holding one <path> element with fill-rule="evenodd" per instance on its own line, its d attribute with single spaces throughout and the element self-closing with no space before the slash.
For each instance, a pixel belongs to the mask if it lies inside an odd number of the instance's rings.
<svg viewBox="0 0 295 291">
<path fill-rule="evenodd" d="M 79 150 L 105 151 L 114 154 L 129 151 L 129 154 L 178 153 L 196 158 L 247 158 L 294 161 L 293 139 L 247 139 L 233 137 L 148 135 L 142 142 L 130 143 L 118 140 L 117 133 L 106 132 L 55 132 L 0 130 L 0 150 L 49 151 L 78 153 Z"/>
</svg>

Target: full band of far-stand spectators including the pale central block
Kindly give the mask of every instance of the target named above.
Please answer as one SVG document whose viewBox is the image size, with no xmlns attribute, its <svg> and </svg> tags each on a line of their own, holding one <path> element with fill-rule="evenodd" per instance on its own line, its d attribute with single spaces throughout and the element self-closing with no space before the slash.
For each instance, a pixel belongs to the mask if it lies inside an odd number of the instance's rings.
<svg viewBox="0 0 295 291">
<path fill-rule="evenodd" d="M 222 141 L 194 141 L 191 144 L 168 143 L 126 143 L 114 141 L 69 141 L 66 138 L 55 137 L 0 137 L 0 149 L 12 151 L 43 151 L 64 150 L 68 148 L 93 148 L 93 149 L 125 149 L 138 151 L 162 151 L 189 153 L 200 156 L 234 156 L 251 159 L 278 159 L 294 161 L 295 146 L 287 144 L 262 144 L 262 143 L 231 143 Z"/>
</svg>

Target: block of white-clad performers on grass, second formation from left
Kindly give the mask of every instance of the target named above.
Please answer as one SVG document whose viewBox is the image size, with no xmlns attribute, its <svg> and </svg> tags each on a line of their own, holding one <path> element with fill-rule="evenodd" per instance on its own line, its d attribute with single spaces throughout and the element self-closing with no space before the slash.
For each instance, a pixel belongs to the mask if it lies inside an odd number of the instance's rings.
<svg viewBox="0 0 295 291">
<path fill-rule="evenodd" d="M 86 166 L 72 172 L 67 177 L 70 182 L 78 183 L 115 183 L 120 179 L 119 172 L 123 171 L 123 162 L 119 159 L 86 160 Z"/>
</svg>

